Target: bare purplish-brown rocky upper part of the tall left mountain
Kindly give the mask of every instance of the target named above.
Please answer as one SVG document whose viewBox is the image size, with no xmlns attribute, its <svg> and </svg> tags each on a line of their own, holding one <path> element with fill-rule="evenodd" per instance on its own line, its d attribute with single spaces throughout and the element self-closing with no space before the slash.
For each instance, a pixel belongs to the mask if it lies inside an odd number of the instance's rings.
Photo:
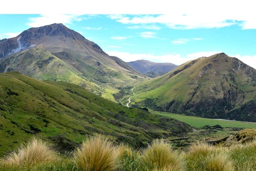
<svg viewBox="0 0 256 171">
<path fill-rule="evenodd" d="M 72 49 L 87 51 L 91 49 L 107 55 L 96 43 L 84 38 L 78 32 L 67 28 L 62 23 L 54 23 L 42 27 L 33 27 L 23 31 L 20 35 L 0 41 L 0 58 L 34 46 L 43 47 L 50 52 L 56 49 Z"/>
</svg>

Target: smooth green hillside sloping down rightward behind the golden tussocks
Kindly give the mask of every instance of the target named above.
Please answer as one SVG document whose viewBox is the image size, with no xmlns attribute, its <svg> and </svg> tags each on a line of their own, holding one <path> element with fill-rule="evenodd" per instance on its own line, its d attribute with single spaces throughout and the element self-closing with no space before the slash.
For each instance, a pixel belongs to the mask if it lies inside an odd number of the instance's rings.
<svg viewBox="0 0 256 171">
<path fill-rule="evenodd" d="M 33 135 L 72 151 L 86 135 L 95 133 L 141 147 L 154 138 L 191 129 L 176 119 L 124 107 L 75 84 L 40 81 L 18 72 L 0 74 L 0 156 Z"/>
</svg>

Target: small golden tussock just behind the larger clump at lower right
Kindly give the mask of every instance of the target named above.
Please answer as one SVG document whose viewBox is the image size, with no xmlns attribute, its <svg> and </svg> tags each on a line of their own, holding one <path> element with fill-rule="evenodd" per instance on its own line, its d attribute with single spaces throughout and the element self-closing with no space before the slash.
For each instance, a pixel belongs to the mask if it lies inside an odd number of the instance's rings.
<svg viewBox="0 0 256 171">
<path fill-rule="evenodd" d="M 206 156 L 214 150 L 215 147 L 213 147 L 212 145 L 203 142 L 197 142 L 190 146 L 189 154 Z"/>
</svg>

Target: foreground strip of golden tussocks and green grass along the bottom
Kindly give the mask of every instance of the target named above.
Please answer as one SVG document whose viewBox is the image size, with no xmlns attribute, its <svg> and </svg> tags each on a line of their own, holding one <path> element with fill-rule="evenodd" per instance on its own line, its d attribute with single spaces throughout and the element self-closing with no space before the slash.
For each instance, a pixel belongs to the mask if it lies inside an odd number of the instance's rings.
<svg viewBox="0 0 256 171">
<path fill-rule="evenodd" d="M 255 170 L 256 141 L 231 147 L 195 143 L 186 152 L 166 140 L 154 140 L 144 149 L 115 144 L 108 137 L 87 137 L 71 154 L 60 156 L 51 144 L 32 138 L 0 162 L 0 170 L 84 171 L 234 171 Z"/>
</svg>

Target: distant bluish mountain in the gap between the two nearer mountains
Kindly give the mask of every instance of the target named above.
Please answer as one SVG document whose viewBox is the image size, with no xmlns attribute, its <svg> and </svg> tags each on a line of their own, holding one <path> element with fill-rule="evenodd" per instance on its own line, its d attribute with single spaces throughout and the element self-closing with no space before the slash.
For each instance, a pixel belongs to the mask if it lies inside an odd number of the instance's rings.
<svg viewBox="0 0 256 171">
<path fill-rule="evenodd" d="M 147 60 L 137 60 L 127 62 L 127 64 L 151 78 L 162 76 L 178 66 L 172 63 L 156 63 Z"/>
</svg>

